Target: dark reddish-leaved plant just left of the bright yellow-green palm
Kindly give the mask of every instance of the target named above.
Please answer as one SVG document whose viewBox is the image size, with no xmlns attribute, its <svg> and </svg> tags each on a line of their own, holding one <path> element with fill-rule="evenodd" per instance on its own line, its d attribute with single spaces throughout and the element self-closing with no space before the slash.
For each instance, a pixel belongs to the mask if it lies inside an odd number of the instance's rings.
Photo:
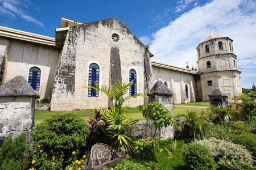
<svg viewBox="0 0 256 170">
<path fill-rule="evenodd" d="M 89 124 L 88 128 L 90 129 L 90 145 L 93 145 L 97 142 L 97 139 L 101 133 L 101 127 L 103 124 L 105 124 L 104 121 L 102 121 L 103 115 L 101 114 L 101 111 L 97 111 L 95 108 L 94 114 L 89 113 L 88 120 L 85 120 L 84 122 Z M 93 142 L 94 141 L 94 142 Z"/>
</svg>

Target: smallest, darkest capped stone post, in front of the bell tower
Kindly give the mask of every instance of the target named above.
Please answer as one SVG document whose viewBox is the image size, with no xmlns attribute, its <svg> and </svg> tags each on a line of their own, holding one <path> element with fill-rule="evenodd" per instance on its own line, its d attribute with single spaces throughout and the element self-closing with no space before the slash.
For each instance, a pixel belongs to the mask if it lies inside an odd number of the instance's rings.
<svg viewBox="0 0 256 170">
<path fill-rule="evenodd" d="M 210 105 L 221 105 L 221 108 L 226 108 L 229 105 L 229 95 L 220 88 L 214 88 L 208 95 L 210 99 Z"/>
</svg>

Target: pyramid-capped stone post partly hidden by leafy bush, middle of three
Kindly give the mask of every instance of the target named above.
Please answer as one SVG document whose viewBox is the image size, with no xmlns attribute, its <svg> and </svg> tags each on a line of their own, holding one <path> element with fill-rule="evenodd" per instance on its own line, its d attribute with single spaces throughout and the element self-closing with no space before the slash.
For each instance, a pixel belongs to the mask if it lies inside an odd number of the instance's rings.
<svg viewBox="0 0 256 170">
<path fill-rule="evenodd" d="M 162 103 L 172 113 L 172 96 L 174 93 L 162 81 L 158 80 L 147 95 L 150 97 L 149 101 Z"/>
</svg>

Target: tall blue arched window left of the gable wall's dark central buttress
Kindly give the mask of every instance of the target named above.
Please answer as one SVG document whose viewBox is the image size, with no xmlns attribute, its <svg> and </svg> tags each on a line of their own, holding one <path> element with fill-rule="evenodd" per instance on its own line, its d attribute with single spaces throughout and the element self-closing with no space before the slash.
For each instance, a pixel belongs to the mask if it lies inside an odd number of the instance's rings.
<svg viewBox="0 0 256 170">
<path fill-rule="evenodd" d="M 95 83 L 98 85 L 100 79 L 100 67 L 97 63 L 91 63 L 89 66 L 89 83 L 88 86 L 95 87 Z M 98 91 L 93 88 L 88 88 L 88 97 L 98 97 Z"/>
</svg>

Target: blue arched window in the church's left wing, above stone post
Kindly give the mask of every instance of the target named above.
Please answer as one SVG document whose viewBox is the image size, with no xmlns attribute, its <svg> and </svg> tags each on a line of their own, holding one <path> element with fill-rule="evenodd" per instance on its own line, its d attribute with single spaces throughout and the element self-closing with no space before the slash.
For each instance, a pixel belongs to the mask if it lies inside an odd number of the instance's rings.
<svg viewBox="0 0 256 170">
<path fill-rule="evenodd" d="M 36 91 L 39 91 L 40 87 L 41 70 L 38 67 L 31 67 L 28 74 L 28 83 Z"/>
</svg>

